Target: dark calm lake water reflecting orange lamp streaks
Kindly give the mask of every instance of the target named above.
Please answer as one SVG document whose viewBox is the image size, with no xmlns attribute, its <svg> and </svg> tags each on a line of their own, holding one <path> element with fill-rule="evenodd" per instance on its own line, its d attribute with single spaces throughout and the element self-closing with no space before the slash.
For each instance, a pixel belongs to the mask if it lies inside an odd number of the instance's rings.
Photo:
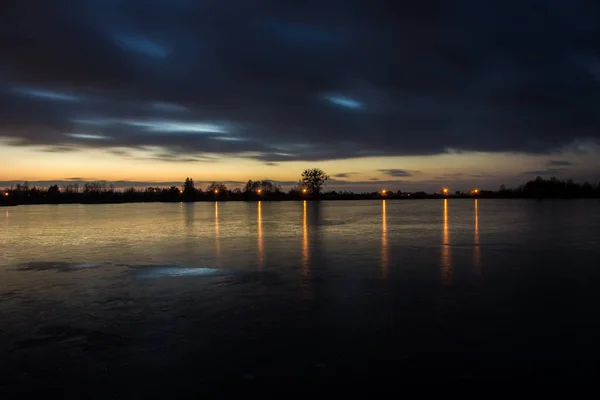
<svg viewBox="0 0 600 400">
<path fill-rule="evenodd" d="M 86 398 L 600 371 L 600 203 L 2 210 L 0 385 Z"/>
</svg>

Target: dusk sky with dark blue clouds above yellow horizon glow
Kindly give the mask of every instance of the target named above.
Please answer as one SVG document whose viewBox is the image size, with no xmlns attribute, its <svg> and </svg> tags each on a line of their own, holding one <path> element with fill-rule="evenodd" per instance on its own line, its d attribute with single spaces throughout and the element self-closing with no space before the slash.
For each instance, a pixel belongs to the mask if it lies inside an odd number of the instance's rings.
<svg viewBox="0 0 600 400">
<path fill-rule="evenodd" d="M 9 4 L 0 186 L 600 180 L 594 0 Z"/>
</svg>

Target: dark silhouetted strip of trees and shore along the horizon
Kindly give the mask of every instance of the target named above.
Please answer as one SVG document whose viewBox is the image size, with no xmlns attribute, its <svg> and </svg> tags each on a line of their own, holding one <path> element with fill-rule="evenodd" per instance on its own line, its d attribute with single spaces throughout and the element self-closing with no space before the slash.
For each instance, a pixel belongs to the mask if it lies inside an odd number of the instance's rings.
<svg viewBox="0 0 600 400">
<path fill-rule="evenodd" d="M 298 183 L 284 191 L 271 180 L 248 180 L 243 188 L 229 189 L 224 183 L 213 182 L 199 188 L 193 178 L 186 178 L 181 186 L 147 187 L 145 189 L 116 189 L 104 182 L 83 185 L 66 184 L 59 187 L 30 186 L 27 182 L 3 190 L 0 206 L 19 204 L 103 204 L 134 202 L 195 202 L 195 201 L 258 201 L 258 200 L 363 200 L 363 199 L 431 199 L 431 198 L 600 198 L 600 183 L 577 183 L 573 180 L 537 177 L 516 188 L 500 186 L 498 190 L 473 189 L 469 192 L 407 192 L 381 189 L 355 193 L 325 191 L 329 176 L 319 169 L 302 172 Z"/>
</svg>

